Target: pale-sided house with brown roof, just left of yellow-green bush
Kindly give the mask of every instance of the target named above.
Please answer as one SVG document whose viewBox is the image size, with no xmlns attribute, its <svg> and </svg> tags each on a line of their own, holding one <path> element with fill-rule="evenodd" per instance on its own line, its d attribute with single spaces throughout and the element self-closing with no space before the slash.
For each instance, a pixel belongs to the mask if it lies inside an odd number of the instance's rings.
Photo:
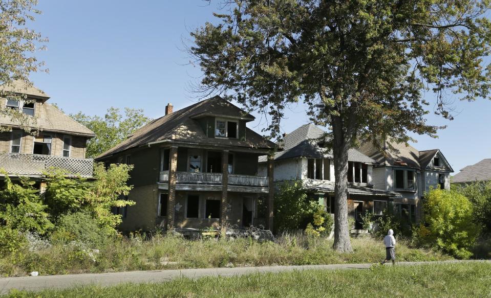
<svg viewBox="0 0 491 298">
<path fill-rule="evenodd" d="M 421 218 L 424 193 L 431 188 L 450 189 L 450 173 L 454 170 L 439 149 L 418 151 L 412 146 L 383 142 L 377 148 L 373 142 L 363 143 L 359 151 L 373 158 L 376 188 L 397 192 L 395 211 L 411 222 Z"/>
</svg>

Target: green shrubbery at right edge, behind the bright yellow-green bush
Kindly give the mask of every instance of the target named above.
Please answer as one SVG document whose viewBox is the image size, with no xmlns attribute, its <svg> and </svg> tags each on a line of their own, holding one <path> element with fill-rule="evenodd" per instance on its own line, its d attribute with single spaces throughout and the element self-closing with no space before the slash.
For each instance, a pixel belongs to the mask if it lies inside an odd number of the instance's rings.
<svg viewBox="0 0 491 298">
<path fill-rule="evenodd" d="M 491 233 L 491 181 L 474 181 L 453 188 L 471 201 L 473 218 L 483 227 L 483 234 Z"/>
</svg>

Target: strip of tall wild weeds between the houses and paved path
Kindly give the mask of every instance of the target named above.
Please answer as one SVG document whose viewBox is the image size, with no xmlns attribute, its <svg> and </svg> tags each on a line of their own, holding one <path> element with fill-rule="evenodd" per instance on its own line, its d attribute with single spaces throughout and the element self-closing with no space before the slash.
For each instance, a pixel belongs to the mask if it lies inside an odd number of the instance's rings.
<svg viewBox="0 0 491 298">
<path fill-rule="evenodd" d="M 276 242 L 259 243 L 250 238 L 235 240 L 186 240 L 177 236 L 156 235 L 108 240 L 93 253 L 81 244 L 53 244 L 49 247 L 24 248 L 0 259 L 2 276 L 25 276 L 83 272 L 112 272 L 224 266 L 311 265 L 372 263 L 385 258 L 381 241 L 352 239 L 353 254 L 334 251 L 326 238 L 308 238 L 303 234 L 285 234 Z M 399 261 L 438 261 L 451 257 L 436 250 L 410 248 L 398 241 Z"/>
</svg>

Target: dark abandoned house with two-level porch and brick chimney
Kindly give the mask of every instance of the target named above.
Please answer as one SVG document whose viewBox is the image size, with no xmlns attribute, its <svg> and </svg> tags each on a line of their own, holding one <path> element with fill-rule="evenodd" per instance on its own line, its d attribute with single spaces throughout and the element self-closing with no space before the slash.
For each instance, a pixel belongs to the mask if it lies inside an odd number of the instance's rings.
<svg viewBox="0 0 491 298">
<path fill-rule="evenodd" d="M 258 218 L 257 200 L 273 199 L 271 181 L 258 175 L 258 157 L 275 144 L 247 128 L 252 120 L 218 96 L 177 111 L 168 104 L 165 116 L 98 156 L 134 165 L 129 199 L 136 204 L 120 211 L 120 230 L 271 226 L 272 212 Z"/>
</svg>

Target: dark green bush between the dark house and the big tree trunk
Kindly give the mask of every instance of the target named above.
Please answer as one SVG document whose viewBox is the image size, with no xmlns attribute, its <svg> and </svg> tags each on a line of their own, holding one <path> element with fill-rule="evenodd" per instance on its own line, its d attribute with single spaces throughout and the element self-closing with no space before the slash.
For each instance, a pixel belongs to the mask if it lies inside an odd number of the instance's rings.
<svg viewBox="0 0 491 298">
<path fill-rule="evenodd" d="M 301 181 L 284 182 L 274 196 L 275 231 L 303 230 L 318 206 L 317 201 L 307 197 Z"/>
</svg>

